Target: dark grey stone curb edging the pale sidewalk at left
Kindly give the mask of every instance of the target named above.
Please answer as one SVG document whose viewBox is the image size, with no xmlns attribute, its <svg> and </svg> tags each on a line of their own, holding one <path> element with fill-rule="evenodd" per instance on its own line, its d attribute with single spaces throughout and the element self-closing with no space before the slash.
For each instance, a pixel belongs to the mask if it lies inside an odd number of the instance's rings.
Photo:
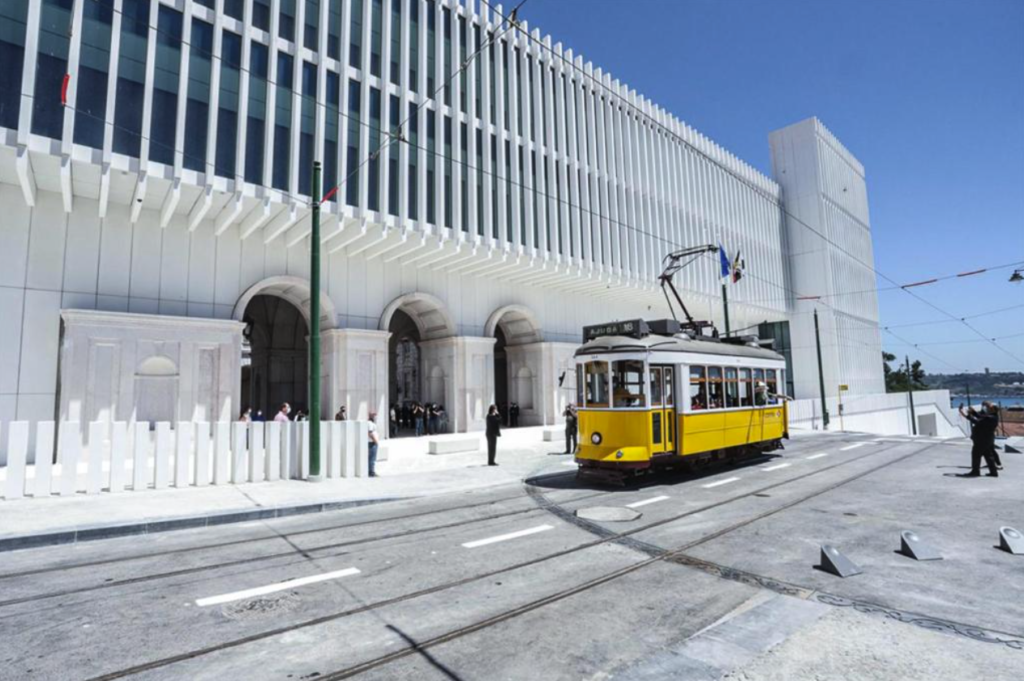
<svg viewBox="0 0 1024 681">
<path fill-rule="evenodd" d="M 341 511 L 348 508 L 383 504 L 385 502 L 401 501 L 403 499 L 411 499 L 411 497 L 382 497 L 380 499 L 356 499 L 346 502 L 327 502 L 323 504 L 274 506 L 271 508 L 254 508 L 245 511 L 225 511 L 223 513 L 211 513 L 207 515 L 142 520 L 139 522 L 123 524 L 87 525 L 83 527 L 72 527 L 70 529 L 48 531 L 37 535 L 14 535 L 0 537 L 0 553 L 4 553 L 6 551 L 16 551 L 18 549 L 35 549 L 43 546 L 93 542 L 101 539 L 115 539 L 118 537 L 130 537 L 133 535 L 154 535 L 157 533 L 173 531 L 175 529 L 214 527 L 216 525 L 248 522 L 250 520 L 266 520 L 270 518 L 286 518 L 293 515 L 327 513 L 329 511 Z"/>
</svg>

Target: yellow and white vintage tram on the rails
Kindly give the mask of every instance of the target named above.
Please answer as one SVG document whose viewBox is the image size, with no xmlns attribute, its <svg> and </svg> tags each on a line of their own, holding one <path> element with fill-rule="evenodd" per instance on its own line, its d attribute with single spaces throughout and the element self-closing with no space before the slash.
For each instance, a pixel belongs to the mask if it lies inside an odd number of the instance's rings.
<svg viewBox="0 0 1024 681">
<path fill-rule="evenodd" d="M 679 332 L 673 321 L 584 330 L 575 352 L 581 474 L 768 452 L 788 437 L 785 360 L 752 339 Z"/>
</svg>

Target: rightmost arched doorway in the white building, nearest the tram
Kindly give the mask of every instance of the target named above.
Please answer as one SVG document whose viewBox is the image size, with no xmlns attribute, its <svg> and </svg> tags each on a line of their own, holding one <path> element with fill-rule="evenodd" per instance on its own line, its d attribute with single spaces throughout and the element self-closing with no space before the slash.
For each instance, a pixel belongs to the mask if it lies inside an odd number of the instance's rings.
<svg viewBox="0 0 1024 681">
<path fill-rule="evenodd" d="M 515 350 L 539 343 L 541 326 L 529 308 L 506 305 L 487 318 L 483 333 L 495 339 L 495 403 L 505 418 L 505 425 L 523 425 L 523 412 L 534 408 L 535 370 Z"/>
</svg>

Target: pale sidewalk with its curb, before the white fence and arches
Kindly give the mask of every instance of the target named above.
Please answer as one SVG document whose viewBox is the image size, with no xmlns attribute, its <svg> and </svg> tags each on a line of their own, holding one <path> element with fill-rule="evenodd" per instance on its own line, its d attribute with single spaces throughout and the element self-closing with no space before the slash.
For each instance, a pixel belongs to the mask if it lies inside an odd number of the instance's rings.
<svg viewBox="0 0 1024 681">
<path fill-rule="evenodd" d="M 408 462 L 381 462 L 376 478 L 279 480 L 0 501 L 0 552 L 319 513 L 513 484 L 541 470 L 571 470 L 561 465 L 570 458 L 551 456 L 561 449 L 559 443 L 539 441 L 539 431 L 503 439 L 510 441 L 508 446 L 499 444 L 498 467 L 486 465 L 485 452 L 424 454 L 419 468 L 410 468 Z"/>
</svg>

